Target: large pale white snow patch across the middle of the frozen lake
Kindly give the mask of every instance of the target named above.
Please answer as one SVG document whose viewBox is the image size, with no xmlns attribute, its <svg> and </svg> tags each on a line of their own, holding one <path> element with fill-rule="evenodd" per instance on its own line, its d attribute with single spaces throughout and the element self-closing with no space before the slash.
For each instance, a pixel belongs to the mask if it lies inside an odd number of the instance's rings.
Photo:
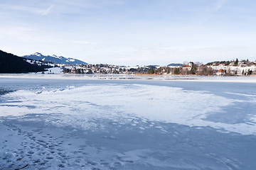
<svg viewBox="0 0 256 170">
<path fill-rule="evenodd" d="M 1 116 L 48 114 L 51 116 L 46 121 L 58 126 L 90 129 L 95 128 L 95 120 L 129 123 L 127 118 L 137 117 L 164 123 L 210 126 L 243 135 L 255 135 L 256 128 L 255 115 L 250 118 L 250 123 L 220 123 L 206 119 L 210 113 L 226 112 L 223 107 L 232 107 L 232 99 L 168 86 L 102 84 L 52 91 L 20 90 L 5 97 L 9 101 L 1 103 Z"/>
</svg>

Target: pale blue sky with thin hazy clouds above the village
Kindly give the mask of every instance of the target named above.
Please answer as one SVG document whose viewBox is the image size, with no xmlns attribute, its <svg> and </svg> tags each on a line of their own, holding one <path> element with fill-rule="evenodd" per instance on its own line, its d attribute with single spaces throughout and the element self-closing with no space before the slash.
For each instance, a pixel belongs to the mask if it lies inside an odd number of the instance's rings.
<svg viewBox="0 0 256 170">
<path fill-rule="evenodd" d="M 90 64 L 256 60 L 255 0 L 0 0 L 0 50 Z"/>
</svg>

